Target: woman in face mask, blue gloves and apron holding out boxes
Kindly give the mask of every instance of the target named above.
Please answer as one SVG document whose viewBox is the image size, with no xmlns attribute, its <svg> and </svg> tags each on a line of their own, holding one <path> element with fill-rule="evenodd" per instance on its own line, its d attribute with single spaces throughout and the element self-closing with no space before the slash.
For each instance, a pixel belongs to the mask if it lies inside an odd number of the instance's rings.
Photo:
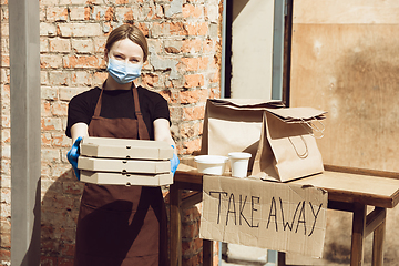
<svg viewBox="0 0 399 266">
<path fill-rule="evenodd" d="M 78 178 L 82 136 L 156 140 L 175 146 L 166 100 L 133 83 L 147 51 L 145 37 L 136 27 L 124 24 L 113 30 L 105 44 L 109 75 L 102 88 L 71 100 L 66 135 L 74 144 L 68 158 Z M 173 173 L 177 165 L 174 154 Z M 168 265 L 161 188 L 85 184 L 75 248 L 75 266 Z"/>
</svg>

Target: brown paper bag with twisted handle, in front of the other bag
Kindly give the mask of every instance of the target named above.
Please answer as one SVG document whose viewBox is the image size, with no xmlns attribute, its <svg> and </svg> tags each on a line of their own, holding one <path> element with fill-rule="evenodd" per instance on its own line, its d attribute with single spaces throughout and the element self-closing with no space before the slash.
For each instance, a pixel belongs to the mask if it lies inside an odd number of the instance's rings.
<svg viewBox="0 0 399 266">
<path fill-rule="evenodd" d="M 324 171 L 316 139 L 326 112 L 311 108 L 267 110 L 252 175 L 286 182 Z"/>
</svg>

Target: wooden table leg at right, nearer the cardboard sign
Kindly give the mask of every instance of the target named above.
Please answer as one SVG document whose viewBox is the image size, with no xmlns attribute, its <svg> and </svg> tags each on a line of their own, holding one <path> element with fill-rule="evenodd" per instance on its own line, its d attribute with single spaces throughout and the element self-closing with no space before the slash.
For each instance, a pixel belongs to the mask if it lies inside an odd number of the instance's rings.
<svg viewBox="0 0 399 266">
<path fill-rule="evenodd" d="M 354 204 L 350 266 L 361 266 L 364 263 L 366 214 L 366 205 L 359 203 Z"/>
</svg>

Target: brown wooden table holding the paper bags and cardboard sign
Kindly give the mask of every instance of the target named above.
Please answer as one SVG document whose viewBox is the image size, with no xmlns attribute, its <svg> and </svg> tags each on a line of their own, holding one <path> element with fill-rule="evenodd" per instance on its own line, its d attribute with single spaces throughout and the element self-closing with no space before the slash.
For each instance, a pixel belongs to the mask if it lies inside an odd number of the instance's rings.
<svg viewBox="0 0 399 266">
<path fill-rule="evenodd" d="M 350 265 L 360 266 L 364 262 L 364 242 L 374 233 L 372 265 L 383 264 L 383 241 L 386 234 L 387 208 L 393 208 L 399 202 L 399 173 L 366 171 L 359 168 L 325 165 L 323 174 L 291 181 L 291 184 L 309 184 L 328 192 L 328 208 L 351 212 L 352 236 Z M 171 266 L 182 265 L 182 206 L 201 202 L 203 175 L 195 168 L 181 164 L 171 185 Z M 190 194 L 184 202 L 181 191 L 200 192 Z M 374 206 L 367 214 L 367 206 Z M 203 265 L 213 265 L 213 242 L 203 242 Z M 285 254 L 279 253 L 278 265 L 285 265 Z"/>
</svg>

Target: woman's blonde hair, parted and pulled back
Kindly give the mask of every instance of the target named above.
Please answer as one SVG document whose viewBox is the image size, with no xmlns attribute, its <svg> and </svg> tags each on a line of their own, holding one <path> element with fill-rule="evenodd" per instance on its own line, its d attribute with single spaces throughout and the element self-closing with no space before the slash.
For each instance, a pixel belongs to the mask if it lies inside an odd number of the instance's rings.
<svg viewBox="0 0 399 266">
<path fill-rule="evenodd" d="M 114 29 L 106 39 L 105 49 L 110 51 L 115 42 L 124 39 L 129 39 L 142 48 L 143 62 L 145 62 L 149 55 L 149 44 L 143 32 L 135 25 L 123 24 Z"/>
</svg>

